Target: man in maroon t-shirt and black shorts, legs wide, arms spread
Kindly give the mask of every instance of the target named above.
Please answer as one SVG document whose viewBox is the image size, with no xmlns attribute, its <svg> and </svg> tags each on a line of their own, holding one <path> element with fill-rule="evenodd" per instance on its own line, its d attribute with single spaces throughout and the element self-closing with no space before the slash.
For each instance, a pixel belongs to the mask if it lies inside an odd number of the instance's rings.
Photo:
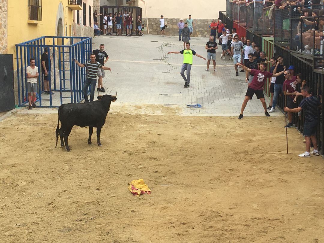
<svg viewBox="0 0 324 243">
<path fill-rule="evenodd" d="M 243 66 L 240 63 L 237 63 L 237 66 L 241 66 L 245 71 L 253 75 L 252 82 L 250 83 L 248 90 L 246 91 L 245 98 L 241 108 L 241 114 L 238 116 L 238 119 L 243 118 L 243 111 L 245 109 L 245 106 L 248 103 L 249 99 L 253 96 L 253 94 L 255 94 L 257 98 L 260 99 L 262 106 L 264 108 L 264 115 L 270 116 L 270 114 L 267 112 L 267 104 L 265 103 L 264 100 L 264 94 L 263 94 L 264 82 L 266 78 L 278 77 L 279 75 L 282 75 L 286 69 L 282 72 L 272 74 L 266 71 L 267 64 L 265 64 L 264 62 L 260 63 L 260 70 L 250 69 L 248 67 Z"/>
</svg>

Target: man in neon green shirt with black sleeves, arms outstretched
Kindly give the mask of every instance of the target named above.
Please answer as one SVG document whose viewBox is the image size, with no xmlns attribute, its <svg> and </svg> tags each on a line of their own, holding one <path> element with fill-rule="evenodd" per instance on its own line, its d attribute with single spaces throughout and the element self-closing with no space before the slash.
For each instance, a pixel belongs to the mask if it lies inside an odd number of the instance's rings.
<svg viewBox="0 0 324 243">
<path fill-rule="evenodd" d="M 205 61 L 206 61 L 206 58 L 204 58 L 203 56 L 197 54 L 194 50 L 191 50 L 190 49 L 190 43 L 187 42 L 186 43 L 186 49 L 185 50 L 182 50 L 182 51 L 179 51 L 179 52 L 168 52 L 168 54 L 171 54 L 171 53 L 174 53 L 174 54 L 183 54 L 183 64 L 182 64 L 182 67 L 181 67 L 181 76 L 182 78 L 184 79 L 185 81 L 185 84 L 184 84 L 184 88 L 189 88 L 190 85 L 190 70 L 191 70 L 191 65 L 192 65 L 192 56 L 195 55 L 195 56 L 198 56 L 200 58 L 203 58 Z M 184 75 L 184 71 L 187 70 L 187 78 L 186 76 Z"/>
</svg>

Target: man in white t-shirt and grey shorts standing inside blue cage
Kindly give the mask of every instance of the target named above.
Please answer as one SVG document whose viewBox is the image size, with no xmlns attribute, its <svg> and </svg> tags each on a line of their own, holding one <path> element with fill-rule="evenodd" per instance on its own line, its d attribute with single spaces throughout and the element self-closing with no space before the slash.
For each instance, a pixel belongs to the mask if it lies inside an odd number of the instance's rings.
<svg viewBox="0 0 324 243">
<path fill-rule="evenodd" d="M 37 92 L 37 78 L 38 78 L 38 67 L 35 66 L 35 59 L 30 58 L 30 66 L 26 68 L 27 73 L 27 82 L 26 82 L 26 89 L 28 92 L 28 102 L 29 107 L 28 110 L 32 108 L 36 108 L 35 100 L 36 100 L 36 92 Z M 33 93 L 33 96 L 31 96 Z"/>
</svg>

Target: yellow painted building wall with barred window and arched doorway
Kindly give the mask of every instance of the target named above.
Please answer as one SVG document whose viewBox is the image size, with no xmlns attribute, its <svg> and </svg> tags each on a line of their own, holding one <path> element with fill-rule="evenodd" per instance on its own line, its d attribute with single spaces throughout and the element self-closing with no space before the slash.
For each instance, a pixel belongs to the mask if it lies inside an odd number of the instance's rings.
<svg viewBox="0 0 324 243">
<path fill-rule="evenodd" d="M 14 56 L 16 68 L 16 47 L 18 43 L 29 41 L 41 36 L 56 36 L 56 18 L 60 2 L 63 4 L 64 25 L 67 27 L 67 36 L 70 36 L 70 25 L 73 26 L 73 11 L 67 7 L 67 0 L 42 0 L 42 24 L 29 24 L 28 0 L 8 1 L 8 54 Z"/>
</svg>

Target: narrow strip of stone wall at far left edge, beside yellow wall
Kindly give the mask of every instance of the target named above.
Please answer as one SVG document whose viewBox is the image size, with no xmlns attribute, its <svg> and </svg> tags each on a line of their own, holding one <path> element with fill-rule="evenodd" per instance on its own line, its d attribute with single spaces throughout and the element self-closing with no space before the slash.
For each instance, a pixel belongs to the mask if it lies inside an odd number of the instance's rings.
<svg viewBox="0 0 324 243">
<path fill-rule="evenodd" d="M 0 54 L 7 54 L 7 0 L 0 0 Z"/>
</svg>

